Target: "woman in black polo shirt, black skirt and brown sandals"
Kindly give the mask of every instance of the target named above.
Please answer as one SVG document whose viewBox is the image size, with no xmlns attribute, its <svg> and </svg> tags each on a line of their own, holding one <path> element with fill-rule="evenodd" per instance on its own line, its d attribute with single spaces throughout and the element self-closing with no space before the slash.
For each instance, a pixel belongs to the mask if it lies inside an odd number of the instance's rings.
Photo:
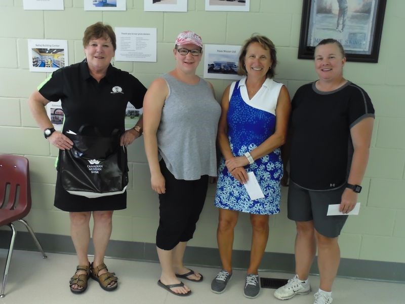
<svg viewBox="0 0 405 304">
<path fill-rule="evenodd" d="M 120 145 L 131 144 L 142 133 L 142 118 L 137 125 L 125 131 L 124 120 L 127 103 L 142 107 L 146 88 L 133 75 L 110 64 L 116 49 L 115 34 L 111 26 L 97 22 L 89 26 L 83 37 L 86 59 L 61 68 L 34 91 L 28 104 L 37 124 L 54 146 L 70 149 L 73 142 L 64 135 L 68 130 L 77 132 L 80 126 L 97 127 L 103 136 L 110 136 L 114 129 L 121 132 Z M 65 114 L 63 131 L 57 132 L 49 120 L 45 105 L 50 101 L 62 101 Z M 87 280 L 92 277 L 107 290 L 117 288 L 117 278 L 108 272 L 104 254 L 112 230 L 113 210 L 127 207 L 127 193 L 99 198 L 87 198 L 69 194 L 63 188 L 59 165 L 56 181 L 55 207 L 70 214 L 70 234 L 78 258 L 77 271 L 70 279 L 70 290 L 82 293 Z M 94 260 L 90 264 L 89 221 L 93 215 Z"/>
</svg>

